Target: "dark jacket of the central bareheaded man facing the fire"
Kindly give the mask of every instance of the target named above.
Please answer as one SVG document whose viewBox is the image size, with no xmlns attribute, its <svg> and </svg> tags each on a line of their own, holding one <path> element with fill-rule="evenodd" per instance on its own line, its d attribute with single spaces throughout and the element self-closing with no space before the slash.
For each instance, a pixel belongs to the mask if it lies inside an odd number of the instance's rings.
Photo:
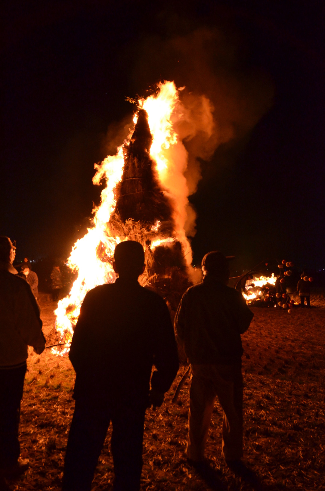
<svg viewBox="0 0 325 491">
<path fill-rule="evenodd" d="M 70 360 L 75 398 L 148 403 L 151 386 L 166 392 L 178 371 L 166 303 L 136 280 L 118 278 L 87 293 L 73 335 Z"/>
</svg>

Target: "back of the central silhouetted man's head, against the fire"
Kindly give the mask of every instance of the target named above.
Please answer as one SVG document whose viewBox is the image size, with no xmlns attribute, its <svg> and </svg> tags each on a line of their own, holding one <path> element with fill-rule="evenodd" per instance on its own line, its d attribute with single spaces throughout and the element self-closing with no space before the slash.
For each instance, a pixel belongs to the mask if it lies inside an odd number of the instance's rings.
<svg viewBox="0 0 325 491">
<path fill-rule="evenodd" d="M 144 264 L 143 247 L 136 241 L 121 242 L 115 247 L 114 261 L 119 273 L 140 274 Z"/>
</svg>

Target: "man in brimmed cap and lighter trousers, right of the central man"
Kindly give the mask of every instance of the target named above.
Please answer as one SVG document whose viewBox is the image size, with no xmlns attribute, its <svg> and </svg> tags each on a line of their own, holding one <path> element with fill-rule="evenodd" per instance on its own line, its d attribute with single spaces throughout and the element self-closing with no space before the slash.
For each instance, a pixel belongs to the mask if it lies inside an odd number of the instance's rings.
<svg viewBox="0 0 325 491">
<path fill-rule="evenodd" d="M 203 281 L 185 292 L 174 321 L 181 361 L 190 362 L 192 373 L 187 455 L 193 465 L 204 461 L 216 397 L 223 409 L 223 457 L 231 465 L 243 456 L 241 334 L 253 313 L 243 295 L 227 286 L 232 258 L 220 251 L 203 257 Z"/>
</svg>

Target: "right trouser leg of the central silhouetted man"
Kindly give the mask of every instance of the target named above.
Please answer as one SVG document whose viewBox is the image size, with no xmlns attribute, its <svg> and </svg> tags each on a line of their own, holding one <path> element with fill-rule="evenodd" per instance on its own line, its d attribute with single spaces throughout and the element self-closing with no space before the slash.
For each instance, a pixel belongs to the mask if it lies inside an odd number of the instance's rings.
<svg viewBox="0 0 325 491">
<path fill-rule="evenodd" d="M 144 407 L 125 406 L 112 412 L 114 491 L 140 489 L 144 415 Z"/>
</svg>

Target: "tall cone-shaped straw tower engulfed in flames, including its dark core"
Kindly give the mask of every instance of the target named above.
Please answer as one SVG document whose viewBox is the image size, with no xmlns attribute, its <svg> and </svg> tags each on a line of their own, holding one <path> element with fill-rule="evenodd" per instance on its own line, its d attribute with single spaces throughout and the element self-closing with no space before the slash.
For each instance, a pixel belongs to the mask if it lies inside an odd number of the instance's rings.
<svg viewBox="0 0 325 491">
<path fill-rule="evenodd" d="M 68 259 L 78 277 L 55 310 L 55 328 L 60 342 L 66 343 L 63 350 L 53 348 L 55 354 L 69 351 L 86 293 L 115 280 L 112 261 L 118 243 L 142 244 L 146 270 L 139 281 L 159 291 L 172 310 L 191 284 L 192 255 L 185 232 L 188 154 L 175 130 L 186 110 L 173 82 L 158 88 L 137 101 L 135 126 L 116 155 L 95 164 L 93 183 L 105 180 L 106 187 L 100 206 L 93 210 L 93 226 L 76 242 Z"/>
</svg>

